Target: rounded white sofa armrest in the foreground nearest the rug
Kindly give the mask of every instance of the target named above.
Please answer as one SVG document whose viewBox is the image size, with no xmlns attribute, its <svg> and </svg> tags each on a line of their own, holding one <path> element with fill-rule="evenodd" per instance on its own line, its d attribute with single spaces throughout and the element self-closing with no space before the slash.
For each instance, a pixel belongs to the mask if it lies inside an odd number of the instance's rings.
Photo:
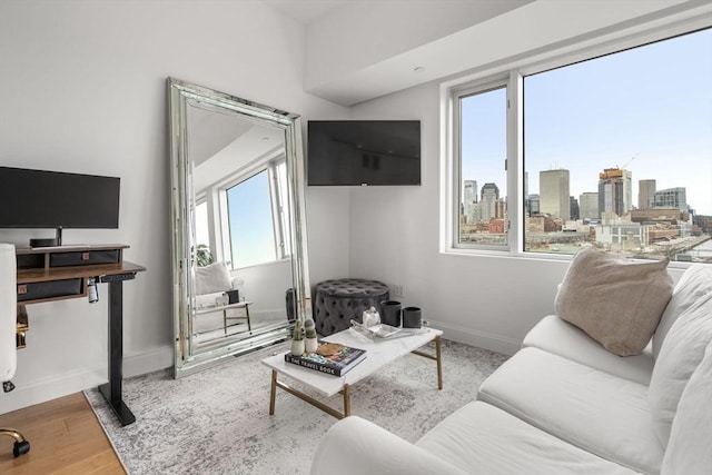
<svg viewBox="0 0 712 475">
<path fill-rule="evenodd" d="M 312 475 L 464 475 L 465 472 L 360 417 L 346 417 L 324 436 Z"/>
</svg>

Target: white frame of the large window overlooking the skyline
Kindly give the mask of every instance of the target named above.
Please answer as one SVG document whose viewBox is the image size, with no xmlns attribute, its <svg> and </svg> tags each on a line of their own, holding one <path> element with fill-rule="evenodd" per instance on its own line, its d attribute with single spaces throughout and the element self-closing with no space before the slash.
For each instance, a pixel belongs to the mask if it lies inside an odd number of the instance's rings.
<svg viewBox="0 0 712 475">
<path fill-rule="evenodd" d="M 610 32 L 597 38 L 571 42 L 557 49 L 538 52 L 527 59 L 513 59 L 495 68 L 483 68 L 467 77 L 441 83 L 442 107 L 442 164 L 441 184 L 441 253 L 514 257 L 543 260 L 571 260 L 572 255 L 555 255 L 524 250 L 526 212 L 524 202 L 524 77 L 562 68 L 576 62 L 621 52 L 647 43 L 664 41 L 674 37 L 712 28 L 709 13 L 686 19 L 669 19 L 652 26 L 635 26 Z M 459 205 L 462 202 L 462 176 L 459 150 L 459 98 L 485 92 L 493 83 L 507 86 L 507 246 L 486 246 L 459 243 Z M 672 267 L 685 268 L 689 263 L 671 261 Z"/>
</svg>

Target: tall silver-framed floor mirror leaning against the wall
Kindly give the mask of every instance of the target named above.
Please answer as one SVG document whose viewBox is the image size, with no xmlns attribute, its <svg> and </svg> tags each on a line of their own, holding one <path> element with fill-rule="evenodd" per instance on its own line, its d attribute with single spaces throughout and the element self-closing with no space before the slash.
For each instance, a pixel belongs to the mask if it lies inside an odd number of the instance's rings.
<svg viewBox="0 0 712 475">
<path fill-rule="evenodd" d="M 298 116 L 168 78 L 175 376 L 310 311 Z"/>
</svg>

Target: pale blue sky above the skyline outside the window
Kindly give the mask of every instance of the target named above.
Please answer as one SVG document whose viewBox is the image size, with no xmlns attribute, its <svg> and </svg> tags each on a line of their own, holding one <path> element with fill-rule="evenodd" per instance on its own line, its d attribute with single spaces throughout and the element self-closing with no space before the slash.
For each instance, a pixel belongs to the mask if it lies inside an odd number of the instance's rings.
<svg viewBox="0 0 712 475">
<path fill-rule="evenodd" d="M 712 215 L 712 29 L 524 79 L 524 167 L 567 169 L 571 195 L 596 192 L 599 172 L 632 171 L 656 189 L 684 187 Z M 465 99 L 463 179 L 495 182 L 506 196 L 504 89 Z"/>
</svg>

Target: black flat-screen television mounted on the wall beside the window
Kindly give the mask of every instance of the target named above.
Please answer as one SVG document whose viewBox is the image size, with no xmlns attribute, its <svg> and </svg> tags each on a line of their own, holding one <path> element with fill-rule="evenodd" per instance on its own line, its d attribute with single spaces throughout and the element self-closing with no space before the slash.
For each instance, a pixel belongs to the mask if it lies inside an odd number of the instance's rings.
<svg viewBox="0 0 712 475">
<path fill-rule="evenodd" d="M 310 120 L 307 184 L 421 185 L 421 121 Z"/>
</svg>

